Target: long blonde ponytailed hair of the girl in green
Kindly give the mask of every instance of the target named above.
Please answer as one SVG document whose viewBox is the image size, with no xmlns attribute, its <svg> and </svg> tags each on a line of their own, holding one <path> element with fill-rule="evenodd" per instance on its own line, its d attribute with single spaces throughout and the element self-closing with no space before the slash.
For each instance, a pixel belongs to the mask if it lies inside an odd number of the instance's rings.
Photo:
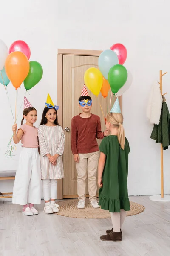
<svg viewBox="0 0 170 256">
<path fill-rule="evenodd" d="M 117 138 L 122 149 L 125 149 L 125 130 L 123 128 L 123 115 L 121 113 L 108 113 L 107 122 L 118 128 Z"/>
</svg>

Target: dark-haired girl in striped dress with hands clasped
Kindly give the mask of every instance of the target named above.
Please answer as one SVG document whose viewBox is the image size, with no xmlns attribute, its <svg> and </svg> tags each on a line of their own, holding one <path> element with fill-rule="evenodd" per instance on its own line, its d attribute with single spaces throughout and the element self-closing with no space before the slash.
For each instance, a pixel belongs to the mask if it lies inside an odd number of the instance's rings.
<svg viewBox="0 0 170 256">
<path fill-rule="evenodd" d="M 46 214 L 59 212 L 59 206 L 55 203 L 57 180 L 64 177 L 62 154 L 65 135 L 58 123 L 56 106 L 51 107 L 50 105 L 50 108 L 44 108 L 41 124 L 38 128 L 42 190 Z"/>
</svg>

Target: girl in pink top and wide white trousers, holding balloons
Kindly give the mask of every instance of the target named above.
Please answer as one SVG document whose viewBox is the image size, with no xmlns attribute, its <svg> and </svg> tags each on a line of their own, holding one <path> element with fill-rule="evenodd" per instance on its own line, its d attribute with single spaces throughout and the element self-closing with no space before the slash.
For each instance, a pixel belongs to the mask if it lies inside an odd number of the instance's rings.
<svg viewBox="0 0 170 256">
<path fill-rule="evenodd" d="M 26 124 L 23 125 L 23 120 Z M 37 215 L 34 204 L 41 204 L 41 171 L 40 156 L 38 153 L 38 129 L 34 127 L 37 121 L 37 111 L 28 107 L 23 111 L 21 126 L 17 132 L 17 124 L 12 126 L 13 140 L 20 142 L 22 151 L 15 176 L 12 203 L 23 205 L 23 214 L 26 216 Z"/>
</svg>

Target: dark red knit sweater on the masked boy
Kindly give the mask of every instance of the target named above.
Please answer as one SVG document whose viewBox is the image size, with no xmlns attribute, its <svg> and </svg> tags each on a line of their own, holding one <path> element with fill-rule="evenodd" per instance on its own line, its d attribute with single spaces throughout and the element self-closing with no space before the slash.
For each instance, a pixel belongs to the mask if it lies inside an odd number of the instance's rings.
<svg viewBox="0 0 170 256">
<path fill-rule="evenodd" d="M 100 117 L 91 114 L 82 118 L 80 114 L 71 120 L 71 150 L 73 154 L 85 154 L 99 151 L 97 139 L 102 140 Z"/>
</svg>

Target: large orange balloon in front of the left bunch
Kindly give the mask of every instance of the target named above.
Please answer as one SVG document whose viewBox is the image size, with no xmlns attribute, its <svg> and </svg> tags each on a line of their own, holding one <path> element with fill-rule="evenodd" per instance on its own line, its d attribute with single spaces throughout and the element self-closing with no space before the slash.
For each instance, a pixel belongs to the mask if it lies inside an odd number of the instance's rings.
<svg viewBox="0 0 170 256">
<path fill-rule="evenodd" d="M 22 52 L 11 52 L 6 58 L 5 70 L 8 79 L 17 90 L 28 75 L 28 58 Z"/>
</svg>

